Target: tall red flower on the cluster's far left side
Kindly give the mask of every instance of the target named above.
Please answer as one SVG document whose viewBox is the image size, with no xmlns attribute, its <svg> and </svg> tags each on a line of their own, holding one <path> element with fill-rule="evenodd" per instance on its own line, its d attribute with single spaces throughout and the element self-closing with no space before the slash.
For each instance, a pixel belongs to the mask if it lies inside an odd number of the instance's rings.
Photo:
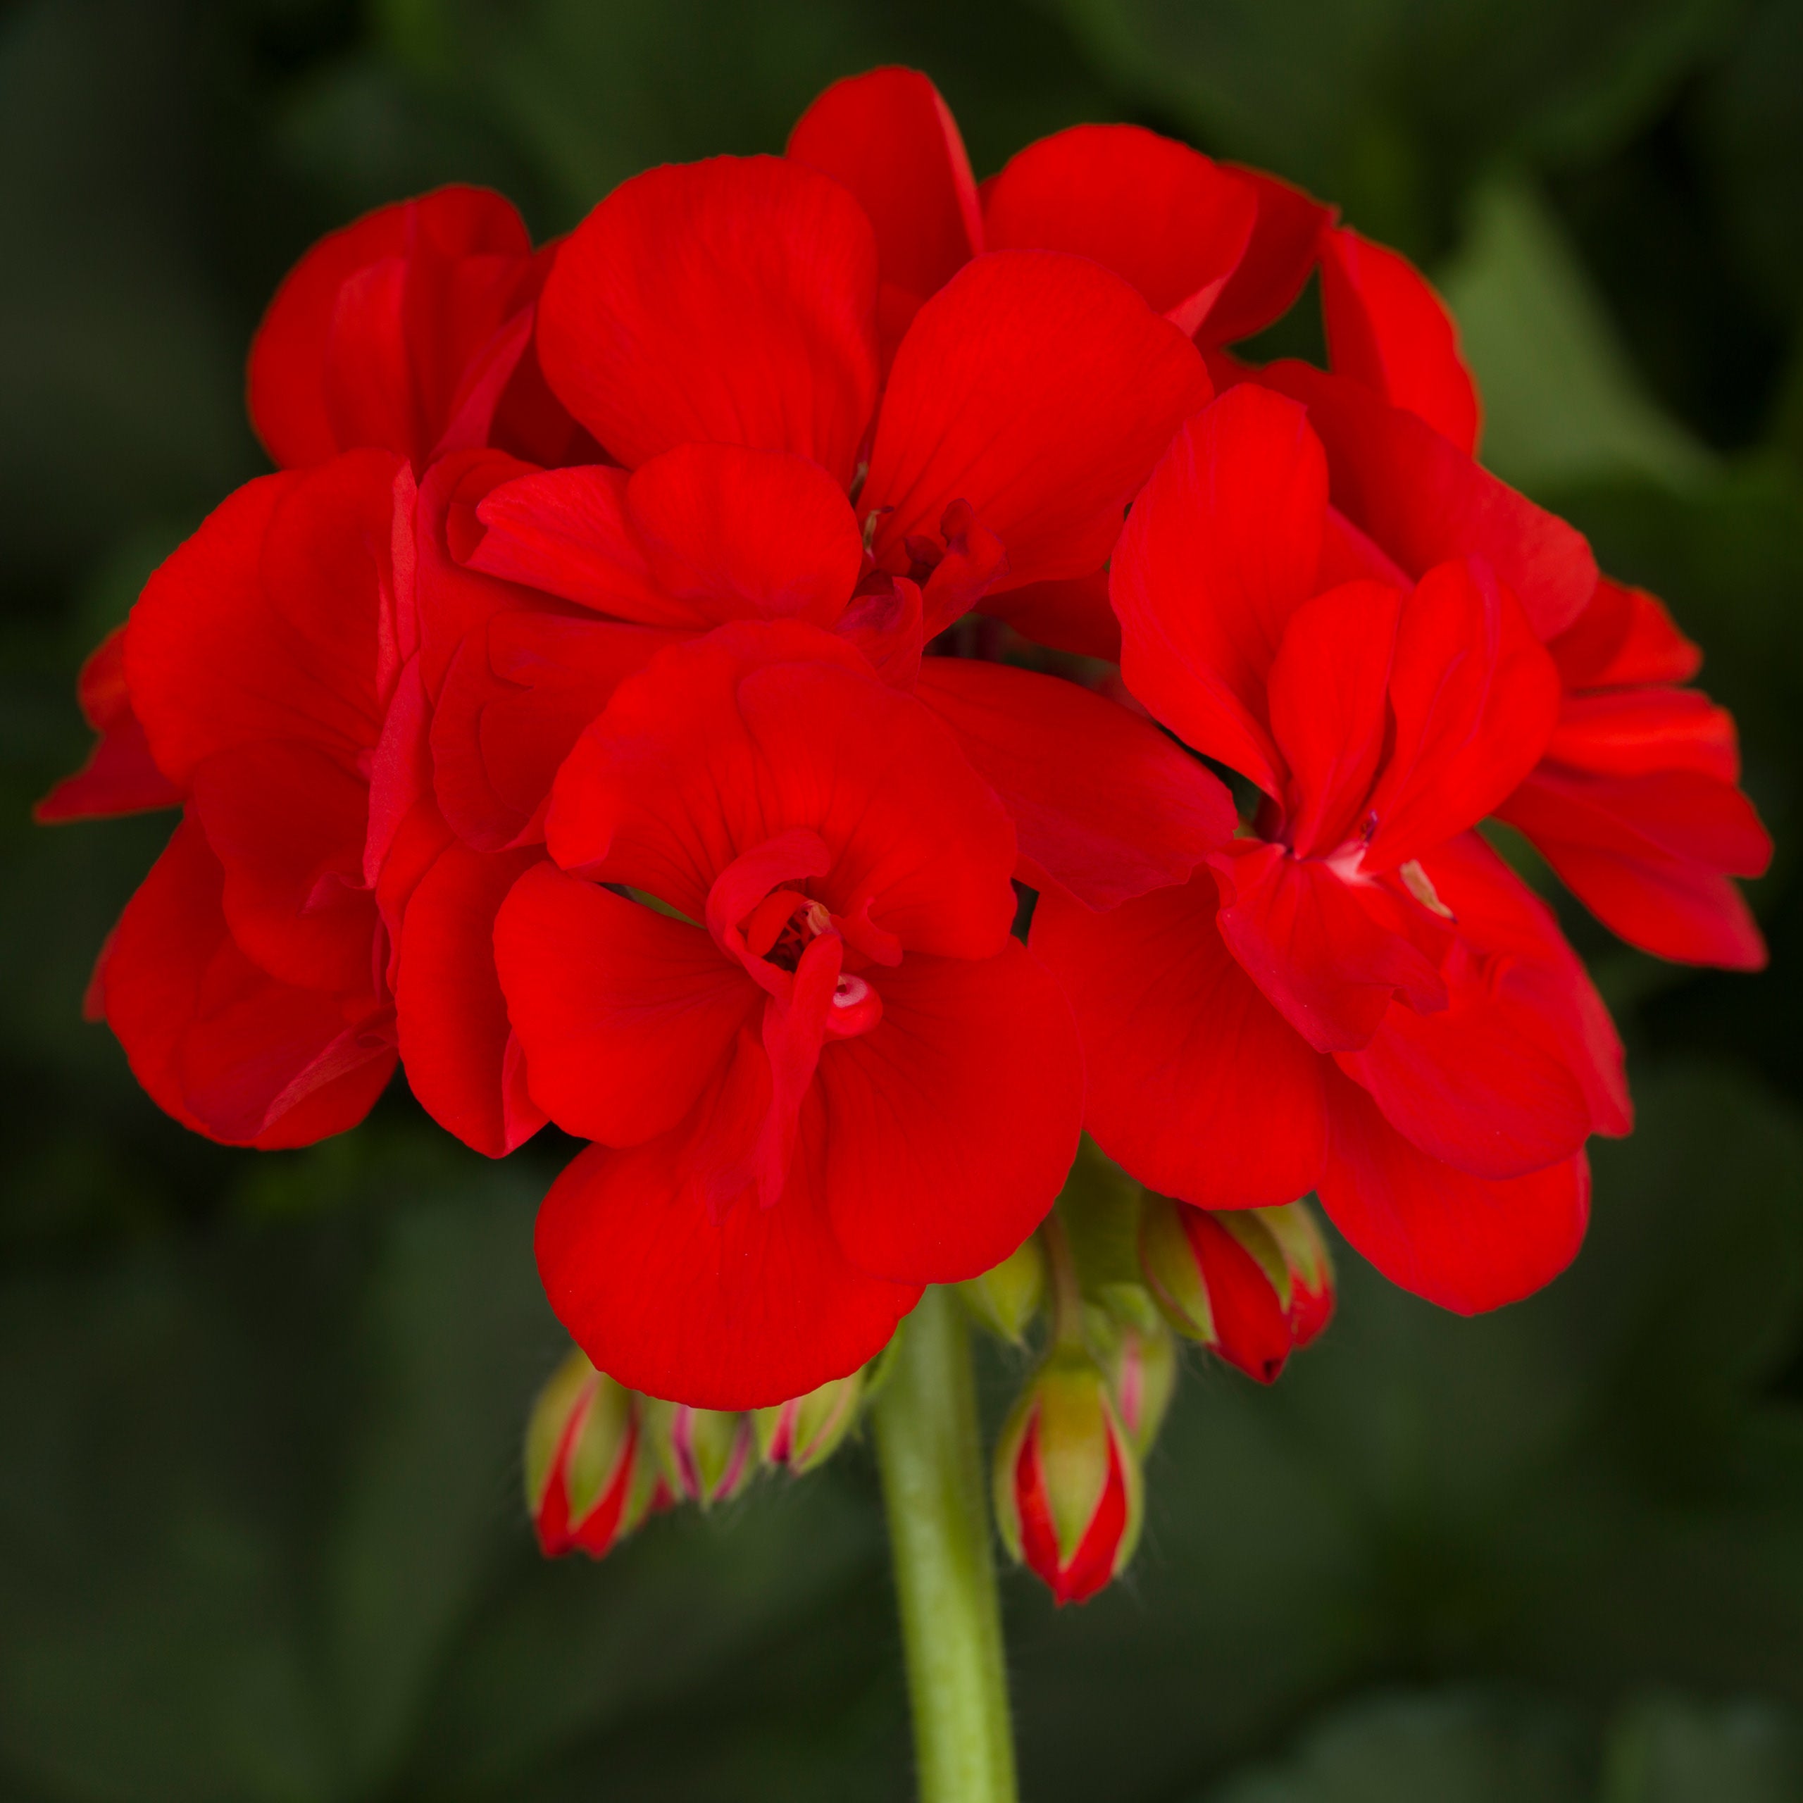
<svg viewBox="0 0 1803 1803">
<path fill-rule="evenodd" d="M 364 840 L 411 503 L 384 451 L 252 481 L 126 629 L 132 703 L 186 815 L 96 999 L 139 1082 L 215 1139 L 339 1132 L 395 1067 Z"/>
</svg>

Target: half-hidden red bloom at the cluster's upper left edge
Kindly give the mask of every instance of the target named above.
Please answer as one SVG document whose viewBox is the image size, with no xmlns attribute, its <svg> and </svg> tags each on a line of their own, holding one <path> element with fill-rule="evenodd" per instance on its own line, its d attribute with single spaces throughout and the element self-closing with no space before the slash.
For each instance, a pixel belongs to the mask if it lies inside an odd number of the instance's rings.
<svg viewBox="0 0 1803 1803">
<path fill-rule="evenodd" d="M 251 344 L 258 438 L 288 469 L 359 445 L 418 472 L 469 445 L 545 463 L 579 454 L 582 435 L 532 350 L 554 260 L 552 245 L 534 254 L 514 204 L 487 188 L 440 188 L 321 238 Z"/>
</svg>

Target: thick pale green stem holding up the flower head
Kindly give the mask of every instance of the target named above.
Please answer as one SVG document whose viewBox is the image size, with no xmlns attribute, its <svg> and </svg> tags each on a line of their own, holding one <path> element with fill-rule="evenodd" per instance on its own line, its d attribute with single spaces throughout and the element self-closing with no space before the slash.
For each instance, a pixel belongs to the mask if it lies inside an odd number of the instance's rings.
<svg viewBox="0 0 1803 1803">
<path fill-rule="evenodd" d="M 970 1329 L 950 1289 L 921 1296 L 892 1359 L 873 1414 L 920 1803 L 1015 1803 Z"/>
</svg>

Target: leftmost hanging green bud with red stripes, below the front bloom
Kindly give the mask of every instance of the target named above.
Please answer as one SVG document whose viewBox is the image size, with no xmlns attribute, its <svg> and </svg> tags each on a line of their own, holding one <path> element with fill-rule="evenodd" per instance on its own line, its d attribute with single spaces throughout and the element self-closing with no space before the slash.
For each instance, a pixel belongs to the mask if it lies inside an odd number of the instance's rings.
<svg viewBox="0 0 1803 1803">
<path fill-rule="evenodd" d="M 638 1399 L 572 1350 L 526 1423 L 526 1507 L 543 1552 L 599 1560 L 644 1520 L 642 1448 Z"/>
</svg>

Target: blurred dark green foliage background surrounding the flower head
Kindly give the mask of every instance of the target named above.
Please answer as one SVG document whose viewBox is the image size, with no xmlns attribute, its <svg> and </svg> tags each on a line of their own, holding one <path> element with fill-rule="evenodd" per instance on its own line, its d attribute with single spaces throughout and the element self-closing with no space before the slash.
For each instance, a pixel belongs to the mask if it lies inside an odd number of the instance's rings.
<svg viewBox="0 0 1803 1803">
<path fill-rule="evenodd" d="M 242 359 L 317 233 L 447 178 L 559 231 L 891 59 L 979 175 L 1138 119 L 1421 260 L 1487 458 L 1706 644 L 1781 847 L 1758 979 L 1570 918 L 1641 1129 L 1569 1277 L 1466 1323 L 1345 1257 L 1273 1392 L 1192 1365 L 1125 1583 L 1062 1615 L 1006 1583 L 1026 1796 L 1796 1803 L 1803 0 L 0 13 L 0 1796 L 909 1794 L 867 1450 L 541 1563 L 517 1432 L 561 1350 L 530 1258 L 561 1149 L 490 1167 L 398 1085 L 305 1154 L 182 1134 L 78 1017 L 166 820 L 25 815 L 83 754 L 79 656 L 260 469 Z"/>
</svg>

